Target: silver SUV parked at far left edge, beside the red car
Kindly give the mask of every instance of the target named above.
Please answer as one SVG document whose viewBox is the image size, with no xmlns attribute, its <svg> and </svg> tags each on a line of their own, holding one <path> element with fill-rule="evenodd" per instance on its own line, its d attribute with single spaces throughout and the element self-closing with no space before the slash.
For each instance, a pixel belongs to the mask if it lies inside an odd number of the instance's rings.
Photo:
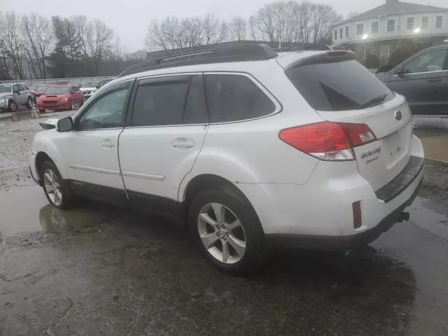
<svg viewBox="0 0 448 336">
<path fill-rule="evenodd" d="M 15 112 L 18 106 L 33 107 L 33 94 L 22 83 L 0 83 L 0 111 Z"/>
</svg>

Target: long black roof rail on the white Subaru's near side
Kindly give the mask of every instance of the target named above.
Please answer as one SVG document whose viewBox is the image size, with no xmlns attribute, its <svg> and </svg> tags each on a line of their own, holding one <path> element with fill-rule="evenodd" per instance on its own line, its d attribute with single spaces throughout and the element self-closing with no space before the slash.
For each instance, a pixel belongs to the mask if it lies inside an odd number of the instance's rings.
<svg viewBox="0 0 448 336">
<path fill-rule="evenodd" d="M 160 59 L 148 59 L 125 69 L 118 77 L 142 71 L 171 68 L 195 64 L 212 64 L 225 62 L 262 61 L 277 57 L 277 53 L 266 44 L 245 44 L 225 48 L 214 48 L 186 52 L 180 55 Z"/>
</svg>

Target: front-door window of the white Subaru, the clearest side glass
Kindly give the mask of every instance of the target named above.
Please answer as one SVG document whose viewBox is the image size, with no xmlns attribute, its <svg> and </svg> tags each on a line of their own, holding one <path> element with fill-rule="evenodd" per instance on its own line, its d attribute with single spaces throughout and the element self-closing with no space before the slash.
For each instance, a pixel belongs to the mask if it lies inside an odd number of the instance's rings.
<svg viewBox="0 0 448 336">
<path fill-rule="evenodd" d="M 77 130 L 96 130 L 123 126 L 129 83 L 111 87 L 89 104 L 76 122 Z"/>
</svg>

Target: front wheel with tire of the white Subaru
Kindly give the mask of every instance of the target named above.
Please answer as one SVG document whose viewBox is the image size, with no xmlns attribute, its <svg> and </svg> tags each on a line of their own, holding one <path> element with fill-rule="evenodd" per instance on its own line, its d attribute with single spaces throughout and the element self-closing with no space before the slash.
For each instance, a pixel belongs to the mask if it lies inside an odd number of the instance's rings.
<svg viewBox="0 0 448 336">
<path fill-rule="evenodd" d="M 43 162 L 39 169 L 39 174 L 43 183 L 43 192 L 53 207 L 65 210 L 71 209 L 76 205 L 76 200 L 73 197 L 71 188 L 69 188 L 69 184 L 62 179 L 59 170 L 52 162 Z"/>
</svg>

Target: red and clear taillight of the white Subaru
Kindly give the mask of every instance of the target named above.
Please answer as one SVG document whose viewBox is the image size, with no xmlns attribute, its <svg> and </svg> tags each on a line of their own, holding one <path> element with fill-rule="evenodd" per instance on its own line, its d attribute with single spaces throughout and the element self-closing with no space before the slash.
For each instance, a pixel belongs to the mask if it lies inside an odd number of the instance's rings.
<svg viewBox="0 0 448 336">
<path fill-rule="evenodd" d="M 365 124 L 323 121 L 281 130 L 279 137 L 286 144 L 320 160 L 354 160 L 353 147 L 375 141 Z"/>
</svg>

